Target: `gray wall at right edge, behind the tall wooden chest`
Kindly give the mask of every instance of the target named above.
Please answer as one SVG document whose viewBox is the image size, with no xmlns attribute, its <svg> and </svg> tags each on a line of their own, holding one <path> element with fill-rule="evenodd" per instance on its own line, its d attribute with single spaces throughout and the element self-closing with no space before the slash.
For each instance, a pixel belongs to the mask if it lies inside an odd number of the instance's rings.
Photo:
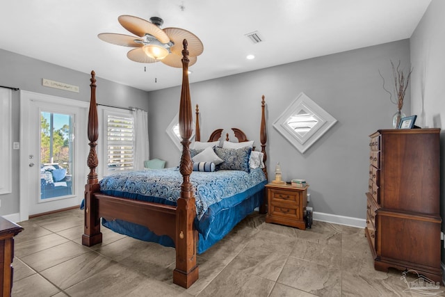
<svg viewBox="0 0 445 297">
<path fill-rule="evenodd" d="M 445 1 L 432 0 L 428 10 L 410 39 L 412 72 L 412 113 L 418 115 L 421 127 L 445 127 Z M 440 214 L 445 214 L 445 131 L 440 134 L 441 143 L 441 195 Z M 442 230 L 445 222 L 442 221 Z M 445 252 L 442 252 L 445 262 Z"/>
</svg>

